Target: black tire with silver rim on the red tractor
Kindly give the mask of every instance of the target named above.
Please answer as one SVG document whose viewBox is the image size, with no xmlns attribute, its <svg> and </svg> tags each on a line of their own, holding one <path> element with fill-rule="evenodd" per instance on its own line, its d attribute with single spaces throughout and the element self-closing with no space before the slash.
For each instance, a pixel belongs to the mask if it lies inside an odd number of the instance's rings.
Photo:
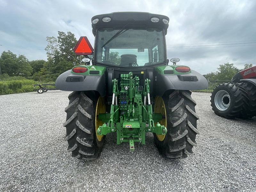
<svg viewBox="0 0 256 192">
<path fill-rule="evenodd" d="M 223 83 L 213 90 L 211 106 L 214 113 L 225 118 L 243 118 L 248 107 L 247 92 L 240 84 Z"/>
</svg>

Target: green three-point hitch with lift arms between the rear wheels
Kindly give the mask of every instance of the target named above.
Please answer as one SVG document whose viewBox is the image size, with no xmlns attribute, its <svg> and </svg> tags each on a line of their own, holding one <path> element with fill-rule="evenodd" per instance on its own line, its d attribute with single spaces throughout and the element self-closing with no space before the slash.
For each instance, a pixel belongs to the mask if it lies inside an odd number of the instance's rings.
<svg viewBox="0 0 256 192">
<path fill-rule="evenodd" d="M 145 132 L 166 134 L 161 113 L 153 113 L 150 101 L 150 80 L 145 79 L 144 88 L 139 85 L 139 77 L 133 73 L 121 74 L 120 86 L 117 79 L 112 80 L 112 103 L 110 113 L 99 114 L 104 124 L 97 129 L 98 135 L 116 132 L 117 144 L 129 142 L 134 151 L 134 141 L 145 144 Z M 120 90 L 119 90 L 119 89 Z"/>
</svg>

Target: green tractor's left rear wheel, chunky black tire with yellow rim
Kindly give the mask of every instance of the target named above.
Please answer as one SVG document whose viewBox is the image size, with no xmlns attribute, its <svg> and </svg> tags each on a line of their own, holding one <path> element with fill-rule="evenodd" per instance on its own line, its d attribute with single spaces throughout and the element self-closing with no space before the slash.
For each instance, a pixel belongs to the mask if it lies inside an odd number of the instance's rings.
<svg viewBox="0 0 256 192">
<path fill-rule="evenodd" d="M 105 101 L 85 92 L 72 92 L 68 99 L 67 121 L 63 125 L 67 131 L 64 140 L 68 141 L 68 151 L 78 159 L 95 159 L 100 156 L 105 142 L 105 135 L 97 135 L 98 126 L 102 125 L 98 115 L 106 112 Z"/>
</svg>

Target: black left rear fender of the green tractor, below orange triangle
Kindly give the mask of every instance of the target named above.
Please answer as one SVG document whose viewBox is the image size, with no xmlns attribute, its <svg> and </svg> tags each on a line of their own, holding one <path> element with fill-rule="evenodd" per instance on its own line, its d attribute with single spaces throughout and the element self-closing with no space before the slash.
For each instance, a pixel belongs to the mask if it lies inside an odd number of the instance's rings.
<svg viewBox="0 0 256 192">
<path fill-rule="evenodd" d="M 58 76 L 55 86 L 62 91 L 97 91 L 106 95 L 105 73 L 102 75 L 78 75 L 68 70 Z"/>
</svg>

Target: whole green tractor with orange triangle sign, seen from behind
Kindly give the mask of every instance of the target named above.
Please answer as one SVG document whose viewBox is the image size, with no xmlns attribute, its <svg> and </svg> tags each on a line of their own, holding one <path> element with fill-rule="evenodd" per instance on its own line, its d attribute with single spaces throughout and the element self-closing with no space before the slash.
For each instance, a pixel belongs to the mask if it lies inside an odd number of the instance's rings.
<svg viewBox="0 0 256 192">
<path fill-rule="evenodd" d="M 113 12 L 92 17 L 94 50 L 80 37 L 74 51 L 87 65 L 75 66 L 56 80 L 57 89 L 73 91 L 65 108 L 68 151 L 78 159 L 100 156 L 105 137 L 116 143 L 145 144 L 154 134 L 164 158 L 186 158 L 197 146 L 198 115 L 191 91 L 206 79 L 178 58 L 168 65 L 165 35 L 169 18 L 147 12 Z M 92 62 L 92 65 L 90 65 Z"/>
</svg>

